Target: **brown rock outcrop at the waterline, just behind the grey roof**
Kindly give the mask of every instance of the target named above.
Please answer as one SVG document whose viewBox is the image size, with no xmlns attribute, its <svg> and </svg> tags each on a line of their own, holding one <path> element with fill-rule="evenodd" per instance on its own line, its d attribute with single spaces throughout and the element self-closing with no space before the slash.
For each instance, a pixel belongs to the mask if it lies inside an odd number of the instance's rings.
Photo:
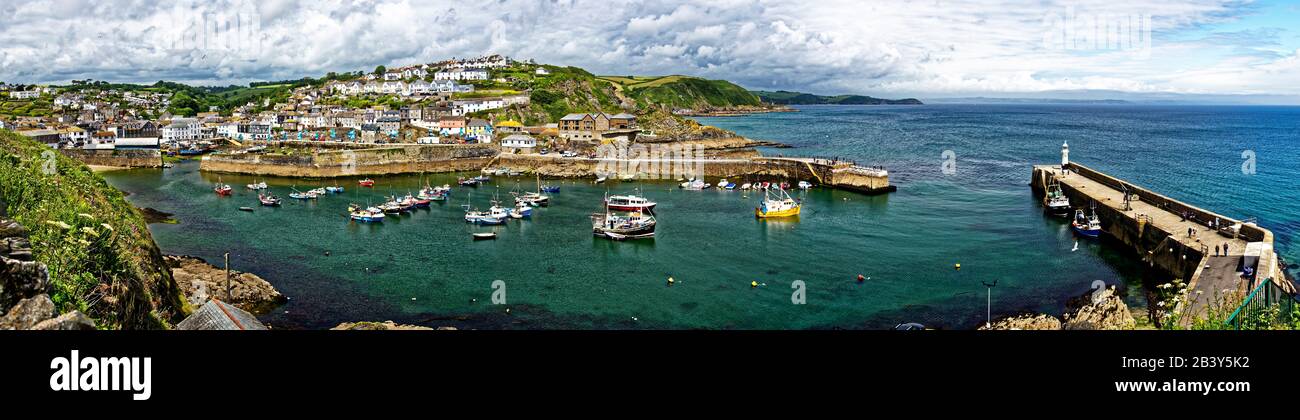
<svg viewBox="0 0 1300 420">
<path fill-rule="evenodd" d="M 220 267 L 195 256 L 168 255 L 164 260 L 172 268 L 172 278 L 176 278 L 181 291 L 194 307 L 200 307 L 212 298 L 220 298 L 240 309 L 265 313 L 289 300 L 257 274 L 231 270 L 228 295 L 226 270 Z"/>
</svg>

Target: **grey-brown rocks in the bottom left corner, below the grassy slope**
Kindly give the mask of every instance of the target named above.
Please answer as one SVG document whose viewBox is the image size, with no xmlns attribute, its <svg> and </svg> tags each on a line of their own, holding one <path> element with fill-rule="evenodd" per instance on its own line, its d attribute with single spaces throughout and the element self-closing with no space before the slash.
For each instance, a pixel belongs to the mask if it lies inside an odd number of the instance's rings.
<svg viewBox="0 0 1300 420">
<path fill-rule="evenodd" d="M 49 289 L 46 264 L 32 261 L 27 229 L 0 218 L 0 330 L 95 329 L 95 322 L 81 311 L 56 317 Z"/>
</svg>

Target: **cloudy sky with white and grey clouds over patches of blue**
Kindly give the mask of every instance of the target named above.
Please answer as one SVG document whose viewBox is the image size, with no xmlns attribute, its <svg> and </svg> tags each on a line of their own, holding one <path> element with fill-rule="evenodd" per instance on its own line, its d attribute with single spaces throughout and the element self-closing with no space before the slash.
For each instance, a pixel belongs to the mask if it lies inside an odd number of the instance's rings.
<svg viewBox="0 0 1300 420">
<path fill-rule="evenodd" d="M 1300 1 L 0 0 L 0 81 L 203 85 L 503 53 L 875 96 L 1300 103 Z"/>
</svg>

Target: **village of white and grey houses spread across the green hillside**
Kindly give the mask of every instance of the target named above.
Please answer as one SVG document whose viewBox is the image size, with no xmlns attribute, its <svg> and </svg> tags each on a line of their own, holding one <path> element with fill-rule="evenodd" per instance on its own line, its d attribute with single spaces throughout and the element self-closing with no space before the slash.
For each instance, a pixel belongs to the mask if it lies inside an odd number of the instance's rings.
<svg viewBox="0 0 1300 420">
<path fill-rule="evenodd" d="M 676 116 L 692 112 L 680 100 L 638 103 L 623 94 L 581 69 L 491 55 L 211 94 L 165 82 L 0 85 L 0 129 L 56 148 L 161 148 L 174 155 L 203 153 L 224 140 L 581 151 L 615 139 L 654 139 L 655 127 L 702 129 Z M 233 103 L 243 98 L 248 100 Z M 203 107 L 204 100 L 221 105 Z M 638 120 L 645 116 L 655 121 L 644 126 Z"/>
</svg>

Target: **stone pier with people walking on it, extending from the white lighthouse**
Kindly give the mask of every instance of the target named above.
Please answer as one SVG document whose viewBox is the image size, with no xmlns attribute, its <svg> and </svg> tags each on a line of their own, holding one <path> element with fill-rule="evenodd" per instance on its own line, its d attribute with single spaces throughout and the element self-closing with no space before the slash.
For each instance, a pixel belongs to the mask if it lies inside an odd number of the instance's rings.
<svg viewBox="0 0 1300 420">
<path fill-rule="evenodd" d="M 1065 168 L 1065 169 L 1062 169 Z M 1295 293 L 1273 248 L 1273 233 L 1171 199 L 1084 165 L 1036 165 L 1030 182 L 1035 196 L 1060 183 L 1074 208 L 1096 204 L 1102 230 L 1128 244 L 1143 260 L 1187 282 L 1184 321 L 1204 316 L 1210 306 L 1226 303 L 1231 311 L 1257 281 L 1271 280 Z M 1127 199 L 1126 199 L 1127 195 Z M 1231 229 L 1212 229 L 1210 224 Z M 1191 234 L 1188 234 L 1191 231 Z M 1227 255 L 1214 247 L 1227 244 Z M 1242 274 L 1249 267 L 1253 278 Z M 1226 302 L 1225 302 L 1226 300 Z"/>
</svg>

